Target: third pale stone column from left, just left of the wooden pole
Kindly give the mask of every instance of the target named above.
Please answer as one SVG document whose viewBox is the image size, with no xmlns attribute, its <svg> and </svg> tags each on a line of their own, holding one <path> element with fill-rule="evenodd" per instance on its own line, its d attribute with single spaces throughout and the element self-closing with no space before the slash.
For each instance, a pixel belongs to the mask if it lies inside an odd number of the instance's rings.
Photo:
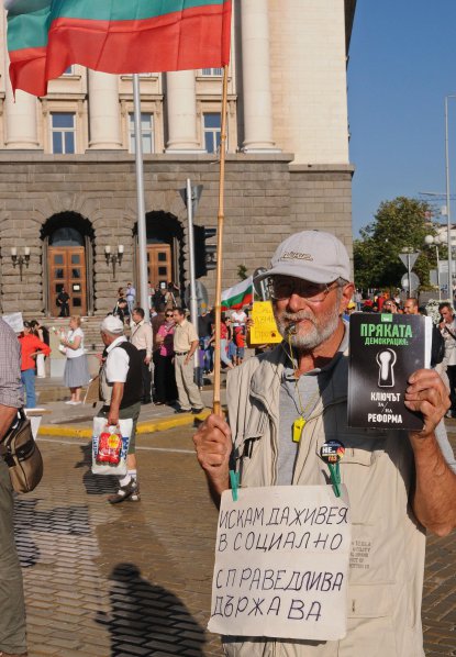
<svg viewBox="0 0 456 657">
<path fill-rule="evenodd" d="M 197 89 L 193 70 L 166 74 L 168 143 L 166 152 L 199 152 L 197 136 Z"/>
</svg>

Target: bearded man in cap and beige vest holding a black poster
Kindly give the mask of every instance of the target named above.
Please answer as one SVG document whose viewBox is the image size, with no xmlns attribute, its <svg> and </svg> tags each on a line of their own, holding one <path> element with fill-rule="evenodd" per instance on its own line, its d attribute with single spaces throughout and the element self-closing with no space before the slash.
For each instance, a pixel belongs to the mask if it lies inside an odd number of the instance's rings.
<svg viewBox="0 0 456 657">
<path fill-rule="evenodd" d="M 229 374 L 227 421 L 210 415 L 194 435 L 212 499 L 218 503 L 230 488 L 230 469 L 242 488 L 327 486 L 322 447 L 335 439 L 345 447 L 340 475 L 352 546 L 368 548 L 363 568 L 349 565 L 345 638 L 225 636 L 225 654 L 423 656 L 425 533 L 445 535 L 456 526 L 456 465 L 442 422 L 445 387 L 434 370 L 410 376 L 404 403 L 422 413 L 420 432 L 348 427 L 348 325 L 342 314 L 354 286 L 344 245 L 330 233 L 297 233 L 258 278 L 268 279 L 283 341 Z"/>
</svg>

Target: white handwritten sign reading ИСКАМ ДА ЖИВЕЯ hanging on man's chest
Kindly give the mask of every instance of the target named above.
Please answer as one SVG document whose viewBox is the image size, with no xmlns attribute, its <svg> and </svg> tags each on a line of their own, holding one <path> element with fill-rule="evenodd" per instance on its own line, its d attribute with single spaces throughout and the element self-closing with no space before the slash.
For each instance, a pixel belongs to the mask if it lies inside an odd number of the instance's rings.
<svg viewBox="0 0 456 657">
<path fill-rule="evenodd" d="M 222 495 L 210 632 L 336 641 L 346 634 L 346 489 L 241 488 Z M 344 501 L 345 500 L 345 501 Z"/>
</svg>

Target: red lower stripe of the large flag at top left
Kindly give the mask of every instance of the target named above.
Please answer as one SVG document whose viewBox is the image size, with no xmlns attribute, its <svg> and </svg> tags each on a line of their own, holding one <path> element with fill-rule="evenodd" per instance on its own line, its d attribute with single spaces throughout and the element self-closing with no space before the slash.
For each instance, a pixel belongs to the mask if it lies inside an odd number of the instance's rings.
<svg viewBox="0 0 456 657">
<path fill-rule="evenodd" d="M 231 3 L 140 21 L 53 21 L 47 48 L 10 53 L 13 89 L 45 96 L 47 80 L 80 64 L 112 74 L 222 67 L 230 60 Z"/>
</svg>

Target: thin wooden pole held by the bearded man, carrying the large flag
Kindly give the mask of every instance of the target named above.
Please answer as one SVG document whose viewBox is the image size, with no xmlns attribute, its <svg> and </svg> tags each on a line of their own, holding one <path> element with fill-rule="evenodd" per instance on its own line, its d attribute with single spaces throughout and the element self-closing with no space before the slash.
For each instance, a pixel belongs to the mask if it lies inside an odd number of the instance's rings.
<svg viewBox="0 0 456 657">
<path fill-rule="evenodd" d="M 216 278 L 215 278 L 215 348 L 214 348 L 214 393 L 212 410 L 216 415 L 222 414 L 221 388 L 221 313 L 222 313 L 222 260 L 223 260 L 223 224 L 225 198 L 225 152 L 226 152 L 226 104 L 227 104 L 227 64 L 223 67 L 222 120 L 220 126 L 220 180 L 219 180 L 219 212 L 216 218 Z"/>
</svg>

